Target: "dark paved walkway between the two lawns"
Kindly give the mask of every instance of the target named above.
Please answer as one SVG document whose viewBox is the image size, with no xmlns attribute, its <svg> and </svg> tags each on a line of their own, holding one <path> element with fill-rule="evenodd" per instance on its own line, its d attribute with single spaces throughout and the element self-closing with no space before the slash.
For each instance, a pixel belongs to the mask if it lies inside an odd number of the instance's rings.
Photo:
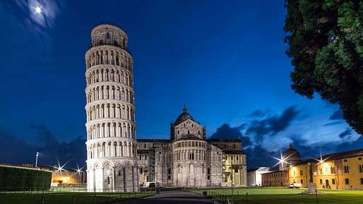
<svg viewBox="0 0 363 204">
<path fill-rule="evenodd" d="M 188 204 L 209 204 L 213 203 L 212 200 L 203 198 L 201 195 L 196 193 L 190 193 L 185 191 L 169 191 L 169 192 L 160 192 L 154 196 L 150 196 L 147 198 L 141 198 L 136 200 L 131 200 L 127 202 L 127 204 L 136 204 L 136 203 L 148 203 L 148 204 L 178 204 L 178 203 L 188 203 Z"/>
</svg>

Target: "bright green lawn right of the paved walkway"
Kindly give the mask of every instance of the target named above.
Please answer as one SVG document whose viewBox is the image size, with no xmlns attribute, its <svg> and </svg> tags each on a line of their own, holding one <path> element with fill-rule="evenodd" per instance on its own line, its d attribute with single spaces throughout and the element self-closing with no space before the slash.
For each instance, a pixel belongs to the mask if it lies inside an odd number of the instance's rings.
<svg viewBox="0 0 363 204">
<path fill-rule="evenodd" d="M 287 189 L 287 188 L 234 188 L 234 204 L 246 203 L 249 204 L 280 204 L 280 203 L 316 203 L 315 195 L 302 195 L 302 191 L 306 189 Z M 227 198 L 231 200 L 230 188 L 217 189 L 197 189 L 187 190 L 195 193 L 207 191 L 208 196 L 213 196 L 215 200 L 225 201 Z M 326 195 L 318 195 L 319 204 L 357 204 L 363 203 L 363 191 L 343 191 L 343 190 L 321 190 Z"/>
</svg>

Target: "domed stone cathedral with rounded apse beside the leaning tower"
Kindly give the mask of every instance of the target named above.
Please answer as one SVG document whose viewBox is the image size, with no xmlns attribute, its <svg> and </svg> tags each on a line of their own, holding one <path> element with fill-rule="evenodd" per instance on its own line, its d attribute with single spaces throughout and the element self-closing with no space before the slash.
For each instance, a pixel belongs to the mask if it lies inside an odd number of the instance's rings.
<svg viewBox="0 0 363 204">
<path fill-rule="evenodd" d="M 184 107 L 170 124 L 170 140 L 138 139 L 141 186 L 246 186 L 242 141 L 206 139 L 205 134 Z"/>
</svg>

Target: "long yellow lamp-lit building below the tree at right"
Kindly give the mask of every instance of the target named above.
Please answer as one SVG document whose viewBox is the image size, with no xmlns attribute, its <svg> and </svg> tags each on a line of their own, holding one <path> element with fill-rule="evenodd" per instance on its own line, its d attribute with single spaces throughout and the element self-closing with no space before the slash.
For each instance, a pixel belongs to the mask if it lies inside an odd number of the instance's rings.
<svg viewBox="0 0 363 204">
<path fill-rule="evenodd" d="M 318 188 L 363 189 L 363 149 L 324 155 L 289 167 L 290 184 L 307 187 L 311 174 Z"/>
</svg>

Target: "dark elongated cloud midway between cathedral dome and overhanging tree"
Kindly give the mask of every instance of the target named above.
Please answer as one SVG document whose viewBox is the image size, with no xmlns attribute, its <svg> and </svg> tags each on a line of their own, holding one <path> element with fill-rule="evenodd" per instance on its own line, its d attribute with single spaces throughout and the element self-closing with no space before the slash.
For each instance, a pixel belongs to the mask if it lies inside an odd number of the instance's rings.
<svg viewBox="0 0 363 204">
<path fill-rule="evenodd" d="M 290 122 L 294 120 L 299 111 L 292 106 L 280 115 L 273 115 L 267 119 L 253 120 L 246 130 L 246 135 L 255 135 L 258 140 L 262 140 L 263 136 L 275 135 L 276 133 L 285 130 L 290 126 Z"/>
</svg>

